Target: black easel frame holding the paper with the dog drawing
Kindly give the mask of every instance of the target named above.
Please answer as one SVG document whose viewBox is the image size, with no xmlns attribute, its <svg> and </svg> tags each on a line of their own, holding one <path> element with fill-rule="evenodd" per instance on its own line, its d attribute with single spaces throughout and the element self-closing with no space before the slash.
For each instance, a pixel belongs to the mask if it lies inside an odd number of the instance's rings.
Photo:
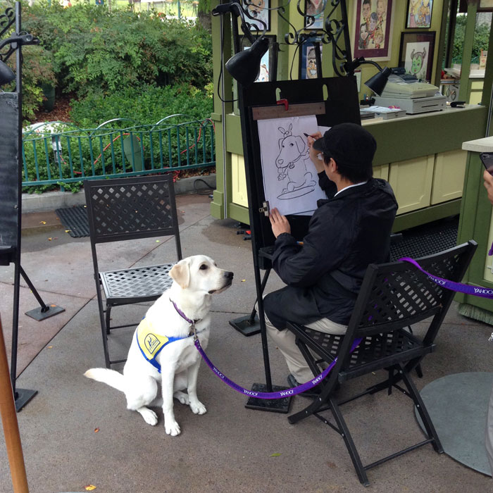
<svg viewBox="0 0 493 493">
<path fill-rule="evenodd" d="M 277 101 L 283 99 L 283 106 Z M 239 109 L 241 111 L 246 189 L 249 203 L 251 249 L 254 257 L 254 273 L 257 295 L 258 321 L 260 323 L 263 363 L 266 383 L 254 383 L 254 392 L 273 392 L 285 389 L 272 385 L 263 311 L 263 289 L 272 268 L 270 262 L 273 236 L 268 219 L 268 204 L 263 191 L 260 141 L 257 122 L 263 118 L 289 118 L 316 115 L 318 125 L 332 127 L 337 123 L 361 123 L 358 91 L 354 77 L 330 77 L 308 80 L 263 82 L 250 87 L 239 85 Z M 273 142 L 273 145 L 275 143 Z M 304 237 L 310 216 L 288 216 L 294 237 Z M 266 270 L 261 279 L 260 270 Z M 277 400 L 250 397 L 247 408 L 287 413 L 291 397 Z"/>
</svg>

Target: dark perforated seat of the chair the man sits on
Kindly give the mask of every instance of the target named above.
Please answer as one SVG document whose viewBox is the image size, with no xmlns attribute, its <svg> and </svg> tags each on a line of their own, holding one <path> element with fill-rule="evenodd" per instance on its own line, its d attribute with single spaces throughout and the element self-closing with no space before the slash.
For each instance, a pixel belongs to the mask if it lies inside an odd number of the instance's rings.
<svg viewBox="0 0 493 493">
<path fill-rule="evenodd" d="M 307 337 L 315 344 L 308 345 L 325 360 L 333 360 L 339 354 L 339 346 L 344 335 L 332 335 L 318 332 L 317 330 L 301 327 Z M 296 331 L 297 335 L 299 334 Z M 306 340 L 305 340 L 306 342 Z M 392 366 L 399 361 L 409 361 L 416 356 L 428 354 L 435 348 L 435 344 L 424 346 L 419 339 L 413 337 L 404 329 L 395 332 L 387 332 L 384 335 L 376 334 L 366 336 L 359 346 L 351 353 L 349 365 L 339 372 L 339 381 L 344 382 L 354 377 L 365 375 L 370 371 L 380 370 Z"/>
</svg>

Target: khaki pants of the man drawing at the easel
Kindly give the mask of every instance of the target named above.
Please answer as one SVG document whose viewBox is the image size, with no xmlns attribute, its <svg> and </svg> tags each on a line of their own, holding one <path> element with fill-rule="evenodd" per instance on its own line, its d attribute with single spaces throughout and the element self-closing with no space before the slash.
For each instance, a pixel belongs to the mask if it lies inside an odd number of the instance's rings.
<svg viewBox="0 0 493 493">
<path fill-rule="evenodd" d="M 329 320 L 328 318 L 321 318 L 320 320 L 316 320 L 316 322 L 308 323 L 305 327 L 318 330 L 318 332 L 324 332 L 325 334 L 345 334 L 347 330 L 347 325 L 332 322 L 332 320 Z M 297 382 L 304 383 L 311 380 L 313 378 L 313 373 L 294 342 L 296 339 L 294 334 L 287 329 L 277 330 L 274 325 L 270 323 L 267 316 L 266 329 L 270 338 L 285 357 L 287 368 L 289 368 L 289 372 L 296 378 Z"/>
</svg>

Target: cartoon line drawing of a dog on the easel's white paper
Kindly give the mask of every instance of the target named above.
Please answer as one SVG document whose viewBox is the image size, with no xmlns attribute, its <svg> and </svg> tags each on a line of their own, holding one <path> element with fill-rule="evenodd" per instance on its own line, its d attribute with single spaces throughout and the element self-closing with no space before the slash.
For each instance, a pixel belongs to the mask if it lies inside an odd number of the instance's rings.
<svg viewBox="0 0 493 493">
<path fill-rule="evenodd" d="M 294 192 L 297 189 L 316 185 L 310 171 L 306 169 L 305 161 L 310 160 L 308 147 L 300 135 L 292 135 L 292 123 L 287 130 L 278 127 L 282 137 L 279 139 L 279 154 L 275 158 L 277 166 L 277 180 L 288 179 L 285 192 Z"/>
</svg>

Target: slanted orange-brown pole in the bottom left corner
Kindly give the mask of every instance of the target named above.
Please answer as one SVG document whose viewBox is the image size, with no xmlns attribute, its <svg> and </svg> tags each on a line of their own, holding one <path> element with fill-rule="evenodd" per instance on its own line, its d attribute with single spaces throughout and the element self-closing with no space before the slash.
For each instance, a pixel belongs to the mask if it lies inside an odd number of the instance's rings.
<svg viewBox="0 0 493 493">
<path fill-rule="evenodd" d="M 15 401 L 10 379 L 8 377 L 7 353 L 5 349 L 4 332 L 0 320 L 0 416 L 4 427 L 5 445 L 8 463 L 11 468 L 14 493 L 28 493 L 27 476 L 20 443 L 19 425 L 15 412 Z"/>
</svg>

